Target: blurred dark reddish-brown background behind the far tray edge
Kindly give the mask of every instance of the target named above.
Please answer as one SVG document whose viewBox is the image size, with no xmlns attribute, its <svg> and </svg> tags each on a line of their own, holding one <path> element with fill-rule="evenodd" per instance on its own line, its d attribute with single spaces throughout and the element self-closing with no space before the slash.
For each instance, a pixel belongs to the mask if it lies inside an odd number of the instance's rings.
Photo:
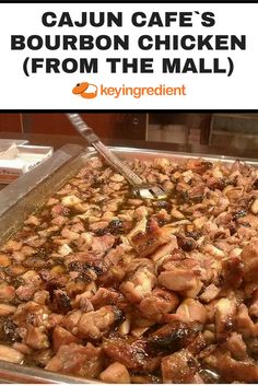
<svg viewBox="0 0 258 386">
<path fill-rule="evenodd" d="M 102 139 L 258 150 L 258 114 L 107 113 L 82 114 Z M 0 114 L 0 137 L 78 136 L 63 114 Z M 10 137 L 9 136 L 9 137 Z M 72 136 L 72 137 L 71 137 Z M 208 151 L 207 150 L 207 151 Z"/>
</svg>

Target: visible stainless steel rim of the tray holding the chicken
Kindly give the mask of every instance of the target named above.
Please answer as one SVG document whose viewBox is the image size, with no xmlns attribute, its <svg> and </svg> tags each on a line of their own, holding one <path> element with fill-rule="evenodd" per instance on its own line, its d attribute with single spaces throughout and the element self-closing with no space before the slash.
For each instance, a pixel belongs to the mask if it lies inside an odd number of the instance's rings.
<svg viewBox="0 0 258 386">
<path fill-rule="evenodd" d="M 181 162 L 189 157 L 202 156 L 209 161 L 221 161 L 231 164 L 233 157 L 207 154 L 172 153 L 168 151 L 142 150 L 129 148 L 110 148 L 122 159 L 138 157 L 152 160 L 165 156 Z M 54 191 L 66 184 L 91 157 L 97 154 L 92 148 L 68 144 L 57 152 L 43 165 L 32 169 L 14 183 L 0 191 L 0 245 L 11 234 L 22 226 L 23 221 L 31 213 L 38 210 Z M 258 166 L 258 160 L 245 161 L 249 165 Z M 0 382 L 4 383 L 101 383 L 90 379 L 50 373 L 38 367 L 27 367 L 0 361 Z"/>
</svg>

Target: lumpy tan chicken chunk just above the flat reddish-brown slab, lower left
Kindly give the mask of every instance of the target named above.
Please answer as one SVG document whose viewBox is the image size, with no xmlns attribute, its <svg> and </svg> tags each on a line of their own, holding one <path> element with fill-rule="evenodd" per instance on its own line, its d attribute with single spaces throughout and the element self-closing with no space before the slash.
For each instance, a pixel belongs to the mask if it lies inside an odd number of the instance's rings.
<svg viewBox="0 0 258 386">
<path fill-rule="evenodd" d="M 97 311 L 83 313 L 78 323 L 78 332 L 82 338 L 99 339 L 108 332 L 115 321 L 121 318 L 121 312 L 115 306 L 104 306 Z"/>
</svg>

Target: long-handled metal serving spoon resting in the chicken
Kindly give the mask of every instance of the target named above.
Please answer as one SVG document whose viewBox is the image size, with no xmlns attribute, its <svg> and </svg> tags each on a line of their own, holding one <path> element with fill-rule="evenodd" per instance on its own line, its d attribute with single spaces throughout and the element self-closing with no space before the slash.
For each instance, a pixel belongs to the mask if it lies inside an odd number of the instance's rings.
<svg viewBox="0 0 258 386">
<path fill-rule="evenodd" d="M 127 182 L 132 186 L 134 194 L 144 199 L 163 200 L 166 198 L 166 192 L 163 188 L 145 184 L 134 172 L 107 149 L 79 114 L 67 114 L 67 117 L 77 131 L 87 140 L 89 144 L 91 144 L 112 167 L 124 175 Z"/>
</svg>

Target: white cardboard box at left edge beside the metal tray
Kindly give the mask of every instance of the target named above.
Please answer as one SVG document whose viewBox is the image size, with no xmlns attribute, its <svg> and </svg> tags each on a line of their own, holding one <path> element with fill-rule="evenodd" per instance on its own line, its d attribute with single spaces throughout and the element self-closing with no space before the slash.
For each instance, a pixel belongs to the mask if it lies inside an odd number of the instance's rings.
<svg viewBox="0 0 258 386">
<path fill-rule="evenodd" d="M 0 152 L 0 184 L 10 184 L 51 156 L 51 147 L 12 143 Z"/>
</svg>

